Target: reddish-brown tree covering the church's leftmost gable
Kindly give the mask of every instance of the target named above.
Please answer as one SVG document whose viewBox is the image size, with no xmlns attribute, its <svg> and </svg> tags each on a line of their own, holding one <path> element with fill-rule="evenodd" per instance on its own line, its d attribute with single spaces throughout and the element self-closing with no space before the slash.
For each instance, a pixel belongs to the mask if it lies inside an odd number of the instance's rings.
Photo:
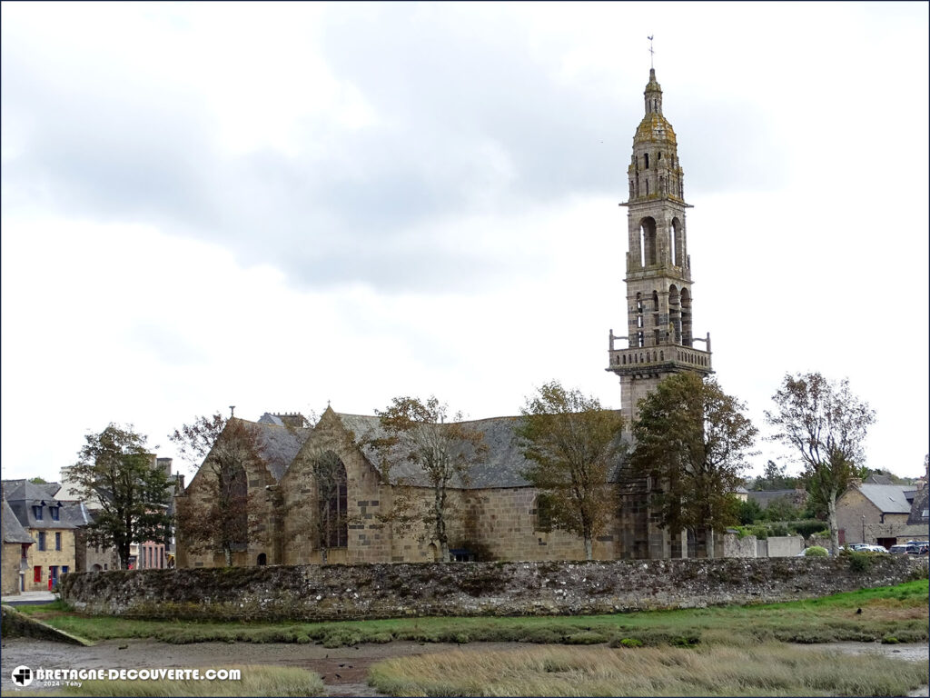
<svg viewBox="0 0 930 698">
<path fill-rule="evenodd" d="M 168 438 L 203 474 L 208 489 L 205 498 L 179 502 L 179 536 L 194 552 L 221 552 L 231 567 L 233 550 L 259 535 L 259 512 L 248 497 L 247 473 L 261 462 L 261 433 L 253 424 L 217 413 L 184 424 Z"/>
</svg>

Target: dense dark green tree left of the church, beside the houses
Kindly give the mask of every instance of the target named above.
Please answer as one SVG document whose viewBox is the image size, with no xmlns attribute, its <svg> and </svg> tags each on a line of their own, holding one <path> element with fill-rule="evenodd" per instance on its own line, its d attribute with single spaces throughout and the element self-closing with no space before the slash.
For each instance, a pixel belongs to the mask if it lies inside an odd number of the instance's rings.
<svg viewBox="0 0 930 698">
<path fill-rule="evenodd" d="M 129 564 L 129 546 L 166 542 L 171 533 L 167 505 L 173 486 L 155 467 L 146 436 L 111 423 L 100 434 L 85 436 L 78 461 L 69 470 L 83 499 L 100 507 L 86 527 L 91 544 L 113 546 L 120 566 Z"/>
</svg>

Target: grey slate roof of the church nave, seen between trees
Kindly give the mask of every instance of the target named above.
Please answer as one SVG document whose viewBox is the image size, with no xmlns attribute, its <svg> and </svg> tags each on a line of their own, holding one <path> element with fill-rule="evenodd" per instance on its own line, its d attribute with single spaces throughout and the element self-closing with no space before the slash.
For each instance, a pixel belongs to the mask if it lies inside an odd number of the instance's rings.
<svg viewBox="0 0 930 698">
<path fill-rule="evenodd" d="M 348 431 L 352 432 L 355 443 L 359 444 L 368 462 L 379 473 L 383 473 L 384 463 L 381 463 L 379 452 L 368 444 L 373 438 L 385 436 L 379 418 L 339 412 L 336 413 L 336 416 L 339 418 L 339 422 Z M 519 420 L 519 417 L 493 417 L 462 423 L 469 429 L 481 433 L 487 446 L 484 462 L 472 466 L 469 473 L 469 482 L 464 486 L 464 489 L 530 487 L 530 483 L 523 477 L 523 471 L 530 463 L 524 457 L 513 432 Z M 423 469 L 417 463 L 410 463 L 403 456 L 392 460 L 394 461 L 390 469 L 392 483 L 403 479 L 411 485 L 425 487 L 430 484 Z M 611 477 L 612 481 L 618 476 L 618 470 L 619 463 L 618 468 Z M 452 486 L 461 489 L 463 483 L 459 480 L 454 482 Z"/>
</svg>

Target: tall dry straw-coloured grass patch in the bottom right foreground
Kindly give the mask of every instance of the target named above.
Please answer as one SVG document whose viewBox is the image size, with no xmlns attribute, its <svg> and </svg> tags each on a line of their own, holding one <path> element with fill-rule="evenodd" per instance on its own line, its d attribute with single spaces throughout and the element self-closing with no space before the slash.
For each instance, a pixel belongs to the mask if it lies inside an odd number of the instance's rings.
<svg viewBox="0 0 930 698">
<path fill-rule="evenodd" d="M 369 672 L 372 686 L 396 696 L 894 696 L 926 684 L 927 677 L 924 664 L 779 643 L 451 651 L 385 660 Z"/>
</svg>

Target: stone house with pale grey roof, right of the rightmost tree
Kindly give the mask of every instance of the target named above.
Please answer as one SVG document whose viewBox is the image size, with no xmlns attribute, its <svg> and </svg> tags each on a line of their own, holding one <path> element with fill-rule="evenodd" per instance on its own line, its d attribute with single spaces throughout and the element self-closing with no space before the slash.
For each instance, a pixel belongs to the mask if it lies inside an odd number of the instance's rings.
<svg viewBox="0 0 930 698">
<path fill-rule="evenodd" d="M 926 541 L 926 523 L 911 518 L 915 499 L 914 490 L 900 485 L 854 483 L 836 501 L 842 540 L 886 548 L 910 540 Z"/>
</svg>

